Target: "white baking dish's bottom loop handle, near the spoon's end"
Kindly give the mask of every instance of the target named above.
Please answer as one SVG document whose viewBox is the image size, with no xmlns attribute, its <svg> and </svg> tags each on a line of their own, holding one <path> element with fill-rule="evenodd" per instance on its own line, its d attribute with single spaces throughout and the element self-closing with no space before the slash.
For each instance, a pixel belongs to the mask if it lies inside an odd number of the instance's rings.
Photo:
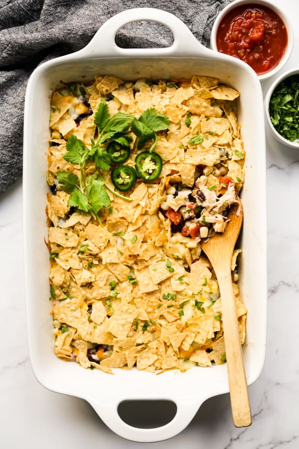
<svg viewBox="0 0 299 449">
<path fill-rule="evenodd" d="M 176 405 L 174 418 L 164 426 L 151 429 L 133 427 L 121 419 L 118 413 L 118 406 L 125 400 L 117 400 L 117 402 L 113 402 L 112 400 L 106 404 L 89 400 L 89 403 L 102 421 L 120 437 L 140 443 L 152 443 L 167 440 L 182 432 L 193 419 L 201 404 L 208 397 L 203 397 L 200 402 L 198 402 L 198 398 L 196 398 L 196 402 L 187 400 L 173 401 Z M 136 401 L 141 401 L 142 399 L 138 398 Z"/>
</svg>

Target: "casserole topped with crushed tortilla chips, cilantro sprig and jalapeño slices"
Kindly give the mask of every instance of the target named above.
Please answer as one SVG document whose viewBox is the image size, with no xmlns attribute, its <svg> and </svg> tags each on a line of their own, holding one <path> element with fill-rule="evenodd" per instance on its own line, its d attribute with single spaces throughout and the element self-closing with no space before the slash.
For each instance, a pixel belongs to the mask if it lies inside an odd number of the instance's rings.
<svg viewBox="0 0 299 449">
<path fill-rule="evenodd" d="M 206 76 L 103 75 L 55 90 L 46 213 L 58 357 L 108 373 L 225 362 L 218 282 L 200 240 L 224 231 L 243 184 L 238 96 Z"/>
</svg>

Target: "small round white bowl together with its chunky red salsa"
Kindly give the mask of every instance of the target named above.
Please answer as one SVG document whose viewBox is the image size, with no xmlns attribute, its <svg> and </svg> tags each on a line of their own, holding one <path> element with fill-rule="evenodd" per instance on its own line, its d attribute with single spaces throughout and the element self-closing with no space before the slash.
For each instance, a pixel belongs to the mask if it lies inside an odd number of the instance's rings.
<svg viewBox="0 0 299 449">
<path fill-rule="evenodd" d="M 287 62 L 294 42 L 292 24 L 276 5 L 265 0 L 236 0 L 217 16 L 211 48 L 249 64 L 260 80 Z"/>
</svg>

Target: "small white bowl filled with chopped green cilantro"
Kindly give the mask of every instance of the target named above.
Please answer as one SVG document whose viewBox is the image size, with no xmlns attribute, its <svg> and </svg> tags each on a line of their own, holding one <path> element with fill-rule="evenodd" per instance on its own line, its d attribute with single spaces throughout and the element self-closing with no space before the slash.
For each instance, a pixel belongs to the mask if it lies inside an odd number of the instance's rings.
<svg viewBox="0 0 299 449">
<path fill-rule="evenodd" d="M 270 86 L 265 112 L 274 137 L 299 149 L 299 67 L 283 73 Z"/>
</svg>

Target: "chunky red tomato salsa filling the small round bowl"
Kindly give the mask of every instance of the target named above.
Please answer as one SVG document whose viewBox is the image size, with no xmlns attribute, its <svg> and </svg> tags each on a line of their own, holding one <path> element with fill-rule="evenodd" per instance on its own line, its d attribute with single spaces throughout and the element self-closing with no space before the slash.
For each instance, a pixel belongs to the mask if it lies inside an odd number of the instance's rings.
<svg viewBox="0 0 299 449">
<path fill-rule="evenodd" d="M 272 70 L 282 59 L 288 44 L 283 20 L 272 9 L 260 5 L 241 5 L 221 20 L 217 49 L 247 62 L 258 75 Z"/>
</svg>

